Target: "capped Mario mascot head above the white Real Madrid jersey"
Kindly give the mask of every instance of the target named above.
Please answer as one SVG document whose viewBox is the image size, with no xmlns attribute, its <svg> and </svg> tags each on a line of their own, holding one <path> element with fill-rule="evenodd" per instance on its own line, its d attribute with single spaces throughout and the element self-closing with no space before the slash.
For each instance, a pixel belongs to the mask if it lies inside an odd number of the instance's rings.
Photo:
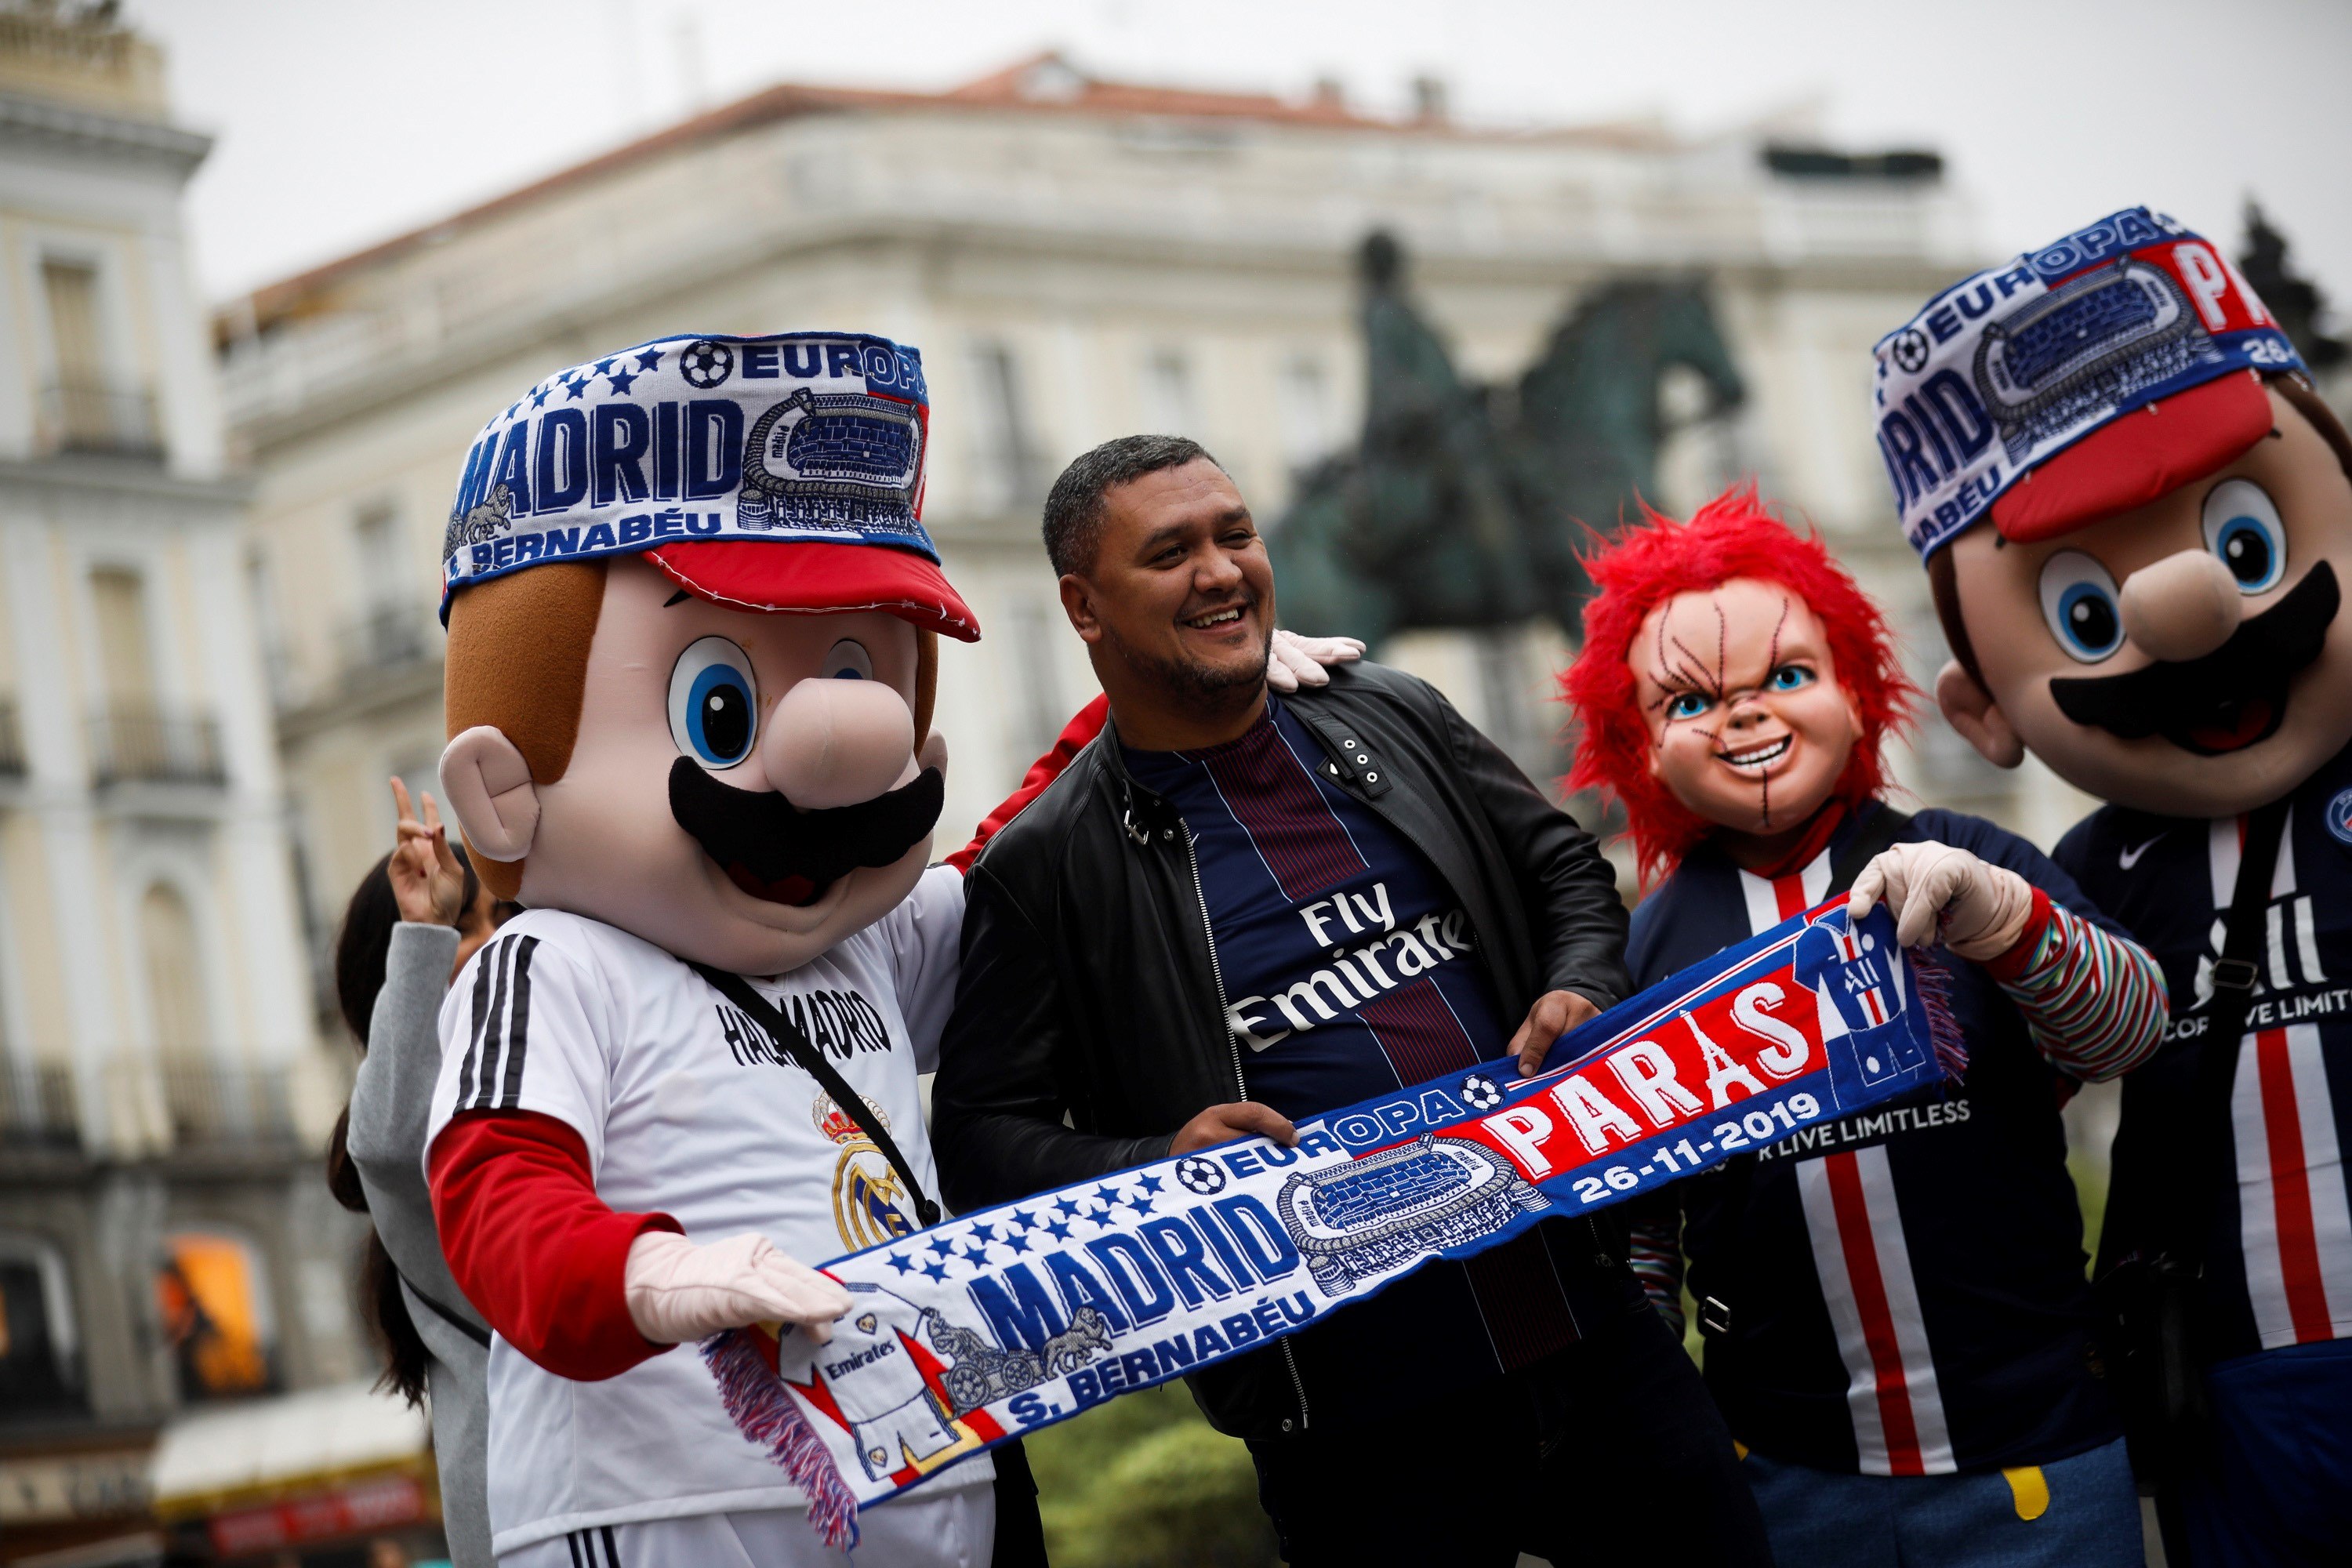
<svg viewBox="0 0 2352 1568">
<path fill-rule="evenodd" d="M 499 896 L 781 973 L 913 889 L 941 811 L 910 348 L 661 339 L 475 440 L 442 541 L 442 790 Z"/>
</svg>

